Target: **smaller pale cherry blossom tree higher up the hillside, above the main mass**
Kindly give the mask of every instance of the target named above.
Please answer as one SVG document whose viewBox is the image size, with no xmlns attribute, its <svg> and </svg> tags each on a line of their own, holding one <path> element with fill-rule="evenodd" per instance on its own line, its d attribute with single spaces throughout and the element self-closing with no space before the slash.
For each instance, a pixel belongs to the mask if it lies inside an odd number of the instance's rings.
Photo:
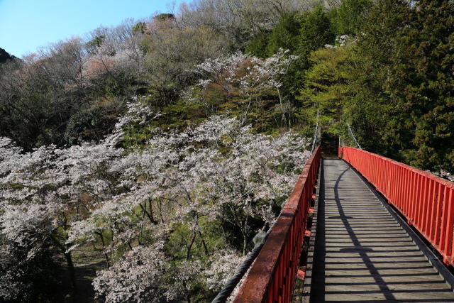
<svg viewBox="0 0 454 303">
<path fill-rule="evenodd" d="M 216 113 L 216 104 L 210 100 L 215 90 L 218 95 L 236 101 L 239 106 L 238 116 L 245 123 L 253 106 L 263 106 L 262 96 L 277 93 L 279 106 L 277 110 L 282 113 L 282 126 L 287 125 L 284 109 L 289 107 L 281 94 L 282 76 L 285 75 L 289 65 L 297 60 L 298 56 L 289 55 L 288 50 L 279 49 L 275 55 L 262 60 L 258 57 L 236 52 L 215 59 L 207 59 L 196 65 L 196 72 L 202 79 L 189 87 L 183 95 L 189 103 L 198 103 L 204 106 L 207 114 Z"/>
</svg>

